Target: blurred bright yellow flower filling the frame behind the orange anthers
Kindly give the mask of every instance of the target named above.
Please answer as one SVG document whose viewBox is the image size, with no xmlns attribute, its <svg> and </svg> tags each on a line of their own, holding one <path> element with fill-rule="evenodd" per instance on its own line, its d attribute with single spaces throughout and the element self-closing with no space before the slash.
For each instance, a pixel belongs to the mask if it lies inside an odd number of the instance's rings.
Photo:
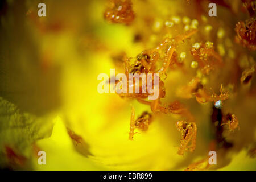
<svg viewBox="0 0 256 182">
<path fill-rule="evenodd" d="M 24 2 L 8 1 L 7 4 L 15 7 L 19 3 Z M 20 6 L 26 7 L 25 18 L 23 10 L 14 14 L 13 9 L 1 17 L 1 32 L 5 41 L 0 42 L 0 57 L 3 57 L 3 74 L 0 76 L 7 81 L 1 85 L 3 92 L 0 95 L 0 118 L 3 121 L 0 123 L 0 168 L 184 170 L 189 164 L 201 160 L 208 165 L 209 151 L 216 150 L 217 165 L 201 169 L 256 169 L 256 160 L 249 155 L 255 148 L 253 144 L 256 140 L 255 80 L 251 80 L 249 85 L 242 85 L 240 75 L 237 75 L 237 70 L 246 70 L 254 63 L 255 55 L 235 46 L 233 34 L 229 31 L 234 27 L 220 23 L 219 18 L 229 18 L 228 10 L 220 6 L 218 8 L 222 11 L 217 16 L 218 20 L 207 18 L 206 14 L 202 15 L 201 22 L 189 16 L 196 6 L 192 1 L 191 6 L 185 6 L 181 1 L 133 1 L 136 16 L 128 26 L 105 22 L 105 4 L 100 0 L 81 1 L 76 5 L 71 1 L 61 2 L 61 5 L 50 0 L 45 3 L 47 10 L 51 11 L 47 11 L 44 19 L 36 16 L 37 5 L 34 1 L 26 1 Z M 226 11 L 227 14 L 221 13 Z M 233 22 L 233 16 L 230 17 L 230 22 Z M 174 22 L 171 26 L 170 21 Z M 22 22 L 24 26 L 15 30 L 13 24 L 17 22 Z M 166 26 L 163 26 L 164 22 Z M 181 135 L 175 126 L 177 121 L 184 119 L 181 115 L 154 113 L 148 130 L 135 130 L 139 133 L 131 141 L 131 106 L 135 108 L 135 118 L 143 111 L 152 113 L 150 106 L 121 98 L 118 94 L 98 93 L 100 81 L 97 76 L 100 73 L 110 76 L 112 68 L 115 68 L 116 74 L 124 73 L 125 67 L 119 55 L 125 52 L 132 57 L 130 61 L 133 63 L 139 53 L 156 47 L 166 36 L 175 38 L 180 35 L 184 26 L 186 30 L 192 27 L 197 32 L 175 46 L 177 59 L 182 61 L 178 60 L 177 65 L 168 68 L 166 77 L 160 76 L 166 78 L 162 79 L 166 88 L 162 104 L 181 100 L 195 117 L 196 149 L 185 151 L 181 156 L 177 154 Z M 210 31 L 205 31 L 208 29 Z M 18 41 L 13 42 L 12 36 Z M 229 40 L 228 45 L 226 40 Z M 217 47 L 214 48 L 214 45 Z M 225 51 L 221 53 L 220 45 L 228 54 Z M 9 48 L 13 55 L 10 55 Z M 195 60 L 191 54 L 192 48 L 199 52 L 199 59 Z M 210 51 L 202 53 L 202 48 L 209 48 Z M 216 53 L 213 58 L 220 56 L 224 67 L 209 70 L 212 72 L 208 75 L 205 68 L 216 61 L 207 57 L 212 50 Z M 230 50 L 241 57 L 230 56 Z M 160 52 L 158 67 L 163 64 L 165 52 Z M 205 67 L 202 60 L 208 61 Z M 241 60 L 243 67 L 238 65 Z M 195 97 L 200 100 L 202 92 L 189 92 L 189 99 L 177 96 L 177 90 L 181 90 L 192 78 L 201 83 L 195 90 L 210 88 L 217 93 L 224 84 L 221 92 L 229 92 L 230 97 L 221 102 L 221 112 L 222 115 L 235 113 L 239 130 L 225 130 L 221 135 L 223 140 L 218 140 L 220 135 L 216 126 L 221 123 L 213 121 L 214 102 L 198 103 Z M 213 96 L 216 97 L 212 94 L 210 99 Z M 229 124 L 226 122 L 223 128 Z M 225 148 L 224 139 L 226 143 L 232 143 L 232 147 Z M 46 165 L 38 163 L 40 150 L 46 152 Z M 23 160 L 26 161 L 24 165 Z"/>
</svg>

